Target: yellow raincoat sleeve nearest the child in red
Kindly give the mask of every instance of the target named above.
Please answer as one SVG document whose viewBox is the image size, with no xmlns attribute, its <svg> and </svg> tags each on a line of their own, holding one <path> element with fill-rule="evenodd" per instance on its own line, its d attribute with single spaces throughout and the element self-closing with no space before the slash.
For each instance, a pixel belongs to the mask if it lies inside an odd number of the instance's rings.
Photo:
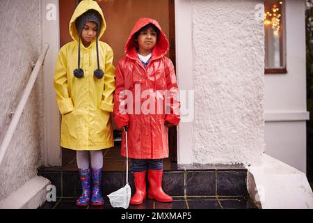
<svg viewBox="0 0 313 223">
<path fill-rule="evenodd" d="M 106 49 L 106 63 L 104 70 L 104 90 L 102 92 L 102 102 L 100 109 L 106 112 L 113 112 L 113 98 L 115 91 L 115 67 L 113 65 L 113 50 Z"/>
</svg>

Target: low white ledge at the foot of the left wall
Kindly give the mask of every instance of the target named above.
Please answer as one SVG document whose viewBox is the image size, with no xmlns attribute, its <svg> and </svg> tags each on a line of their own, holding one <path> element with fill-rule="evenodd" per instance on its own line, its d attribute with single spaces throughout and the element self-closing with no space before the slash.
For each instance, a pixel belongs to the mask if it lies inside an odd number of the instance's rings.
<svg viewBox="0 0 313 223">
<path fill-rule="evenodd" d="M 19 190 L 0 201 L 0 209 L 35 209 L 41 206 L 47 197 L 50 181 L 42 176 L 27 181 Z"/>
</svg>

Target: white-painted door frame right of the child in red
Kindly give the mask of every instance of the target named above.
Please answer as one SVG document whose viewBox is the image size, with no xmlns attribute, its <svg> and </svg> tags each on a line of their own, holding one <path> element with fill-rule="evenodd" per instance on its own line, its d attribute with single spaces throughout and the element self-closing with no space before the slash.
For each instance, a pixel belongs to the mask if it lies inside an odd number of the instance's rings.
<svg viewBox="0 0 313 223">
<path fill-rule="evenodd" d="M 175 42 L 178 89 L 193 89 L 191 1 L 175 0 Z M 177 130 L 177 164 L 193 163 L 193 122 L 180 122 Z"/>
</svg>

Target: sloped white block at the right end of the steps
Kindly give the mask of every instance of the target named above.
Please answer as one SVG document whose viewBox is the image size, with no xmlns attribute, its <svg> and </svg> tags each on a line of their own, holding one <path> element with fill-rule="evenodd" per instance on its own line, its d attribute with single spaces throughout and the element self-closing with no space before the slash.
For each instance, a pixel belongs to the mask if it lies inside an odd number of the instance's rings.
<svg viewBox="0 0 313 223">
<path fill-rule="evenodd" d="M 250 198 L 263 209 L 312 209 L 313 193 L 305 174 L 269 155 L 248 169 Z"/>
</svg>

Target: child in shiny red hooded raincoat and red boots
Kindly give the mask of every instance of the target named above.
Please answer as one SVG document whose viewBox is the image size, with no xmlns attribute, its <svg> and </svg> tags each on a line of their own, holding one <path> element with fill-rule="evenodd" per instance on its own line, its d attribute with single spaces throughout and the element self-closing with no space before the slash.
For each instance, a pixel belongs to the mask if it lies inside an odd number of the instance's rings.
<svg viewBox="0 0 313 223">
<path fill-rule="evenodd" d="M 161 187 L 163 159 L 168 157 L 168 127 L 180 121 L 175 70 L 172 61 L 164 56 L 168 49 L 159 23 L 141 18 L 125 45 L 126 56 L 118 61 L 113 115 L 118 128 L 128 128 L 136 187 L 130 201 L 133 205 L 143 203 L 147 194 L 149 199 L 172 201 Z M 126 156 L 124 133 L 121 155 Z"/>
</svg>

